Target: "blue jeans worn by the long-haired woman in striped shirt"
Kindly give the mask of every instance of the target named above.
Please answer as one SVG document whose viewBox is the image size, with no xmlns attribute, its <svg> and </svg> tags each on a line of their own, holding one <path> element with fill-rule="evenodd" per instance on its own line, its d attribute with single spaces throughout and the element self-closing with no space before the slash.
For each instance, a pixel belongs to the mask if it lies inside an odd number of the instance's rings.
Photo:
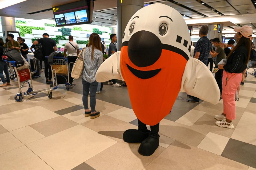
<svg viewBox="0 0 256 170">
<path fill-rule="evenodd" d="M 94 81 L 92 83 L 89 83 L 82 78 L 83 83 L 83 107 L 85 109 L 89 109 L 88 107 L 88 94 L 90 89 L 90 107 L 91 107 L 91 113 L 95 111 L 96 106 L 96 90 L 98 86 L 98 82 Z"/>
</svg>

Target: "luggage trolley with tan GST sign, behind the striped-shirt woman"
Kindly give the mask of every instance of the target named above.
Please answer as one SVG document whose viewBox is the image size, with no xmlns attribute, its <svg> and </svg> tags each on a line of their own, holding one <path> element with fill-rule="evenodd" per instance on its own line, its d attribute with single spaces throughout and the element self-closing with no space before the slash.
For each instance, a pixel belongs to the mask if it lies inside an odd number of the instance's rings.
<svg viewBox="0 0 256 170">
<path fill-rule="evenodd" d="M 46 56 L 48 58 L 48 56 Z M 53 77 L 53 81 L 50 86 L 53 84 L 65 84 L 66 89 L 69 90 L 70 86 L 70 65 L 74 63 L 67 62 L 67 58 L 64 57 L 53 57 L 53 65 L 51 65 L 51 70 L 55 71 L 55 77 Z M 57 78 L 58 77 L 58 78 Z"/>
</svg>

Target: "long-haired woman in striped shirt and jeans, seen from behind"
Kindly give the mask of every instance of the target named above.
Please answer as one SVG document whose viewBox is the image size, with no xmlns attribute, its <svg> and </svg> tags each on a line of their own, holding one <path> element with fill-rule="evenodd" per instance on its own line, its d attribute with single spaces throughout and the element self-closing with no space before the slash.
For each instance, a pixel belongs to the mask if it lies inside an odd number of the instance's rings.
<svg viewBox="0 0 256 170">
<path fill-rule="evenodd" d="M 95 111 L 96 106 L 96 90 L 98 82 L 95 80 L 95 74 L 102 64 L 103 55 L 101 52 L 101 38 L 98 34 L 93 33 L 90 35 L 88 47 L 81 53 L 83 56 L 83 106 L 85 108 L 85 117 L 91 116 L 91 119 L 100 116 L 99 111 Z M 90 107 L 88 107 L 88 94 L 90 89 Z"/>
</svg>

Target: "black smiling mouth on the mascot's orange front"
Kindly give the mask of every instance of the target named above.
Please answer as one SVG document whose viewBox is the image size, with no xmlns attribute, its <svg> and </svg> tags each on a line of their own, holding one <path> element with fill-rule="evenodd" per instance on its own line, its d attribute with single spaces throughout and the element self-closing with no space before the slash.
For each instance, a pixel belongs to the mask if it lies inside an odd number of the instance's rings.
<svg viewBox="0 0 256 170">
<path fill-rule="evenodd" d="M 141 70 L 137 70 L 135 68 L 132 68 L 128 64 L 126 64 L 126 65 L 127 65 L 128 69 L 131 71 L 131 73 L 134 74 L 134 76 L 136 76 L 138 78 L 141 78 L 141 79 L 147 79 L 147 78 L 154 77 L 155 75 L 157 75 L 161 71 L 161 68 L 156 69 L 156 70 L 141 71 Z"/>
</svg>

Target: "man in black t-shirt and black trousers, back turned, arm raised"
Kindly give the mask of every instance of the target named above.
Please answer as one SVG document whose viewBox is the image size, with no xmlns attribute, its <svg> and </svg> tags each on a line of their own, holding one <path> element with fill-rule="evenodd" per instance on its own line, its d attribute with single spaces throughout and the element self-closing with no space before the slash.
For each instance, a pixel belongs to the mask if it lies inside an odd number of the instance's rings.
<svg viewBox="0 0 256 170">
<path fill-rule="evenodd" d="M 36 44 L 42 44 L 42 52 L 44 56 L 49 56 L 52 52 L 57 51 L 57 45 L 56 42 L 53 39 L 49 38 L 49 34 L 44 33 L 43 38 L 40 38 L 33 42 L 34 45 Z M 48 64 L 48 59 L 45 58 L 45 78 L 47 83 L 51 83 L 51 67 Z"/>
</svg>

